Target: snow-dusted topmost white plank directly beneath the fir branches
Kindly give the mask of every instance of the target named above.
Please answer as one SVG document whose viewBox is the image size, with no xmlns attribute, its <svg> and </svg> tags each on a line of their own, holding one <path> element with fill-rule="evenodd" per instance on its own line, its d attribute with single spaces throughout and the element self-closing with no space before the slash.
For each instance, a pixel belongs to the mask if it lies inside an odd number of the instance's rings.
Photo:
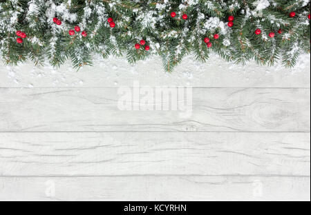
<svg viewBox="0 0 311 215">
<path fill-rule="evenodd" d="M 130 66 L 125 59 L 95 60 L 93 67 L 73 70 L 70 63 L 59 69 L 34 68 L 32 63 L 6 67 L 0 61 L 0 88 L 111 88 L 115 85 L 191 85 L 216 88 L 310 88 L 310 54 L 300 57 L 296 68 L 286 69 L 247 63 L 232 65 L 212 56 L 207 63 L 187 57 L 175 72 L 162 69 L 153 57 Z"/>
</svg>

